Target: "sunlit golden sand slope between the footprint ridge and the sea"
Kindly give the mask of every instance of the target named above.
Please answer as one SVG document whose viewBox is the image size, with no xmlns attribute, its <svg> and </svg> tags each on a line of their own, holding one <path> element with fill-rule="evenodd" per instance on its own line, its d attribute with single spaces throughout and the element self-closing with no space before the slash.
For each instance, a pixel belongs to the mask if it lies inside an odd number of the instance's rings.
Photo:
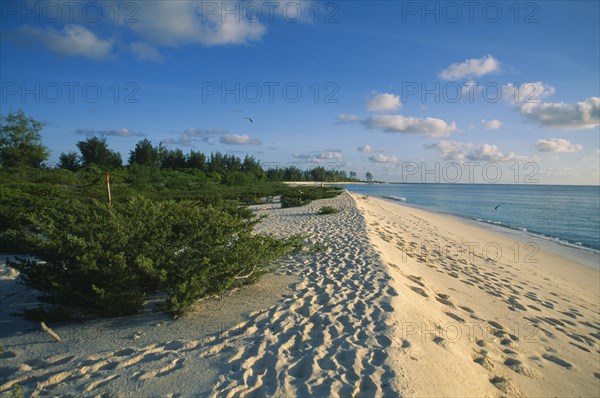
<svg viewBox="0 0 600 398">
<path fill-rule="evenodd" d="M 399 293 L 396 389 L 598 396 L 598 271 L 453 217 L 355 197 Z"/>
</svg>

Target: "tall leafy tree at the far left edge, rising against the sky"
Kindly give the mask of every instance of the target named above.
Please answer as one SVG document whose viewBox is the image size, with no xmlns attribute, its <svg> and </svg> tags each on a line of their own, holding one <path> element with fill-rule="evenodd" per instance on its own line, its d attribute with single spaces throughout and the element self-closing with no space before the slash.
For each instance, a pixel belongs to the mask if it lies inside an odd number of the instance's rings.
<svg viewBox="0 0 600 398">
<path fill-rule="evenodd" d="M 27 117 L 23 110 L 0 115 L 0 164 L 4 167 L 41 167 L 50 154 L 42 145 L 44 123 Z"/>
</svg>

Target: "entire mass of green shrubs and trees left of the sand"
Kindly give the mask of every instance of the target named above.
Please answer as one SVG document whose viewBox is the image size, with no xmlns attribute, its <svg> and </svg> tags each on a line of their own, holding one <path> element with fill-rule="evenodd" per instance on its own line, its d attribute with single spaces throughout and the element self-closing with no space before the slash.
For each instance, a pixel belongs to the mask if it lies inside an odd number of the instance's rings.
<svg viewBox="0 0 600 398">
<path fill-rule="evenodd" d="M 281 196 L 284 207 L 305 205 L 341 189 L 282 180 L 347 179 L 323 167 L 265 171 L 251 156 L 184 154 L 149 140 L 122 166 L 98 137 L 78 142 L 79 153 L 61 154 L 59 168 L 42 168 L 41 128 L 22 111 L 2 118 L 0 250 L 38 260 L 10 265 L 44 301 L 104 315 L 137 313 L 156 292 L 165 294 L 167 310 L 181 313 L 199 298 L 255 282 L 302 238 L 254 234 L 260 219 L 244 204 Z"/>
</svg>

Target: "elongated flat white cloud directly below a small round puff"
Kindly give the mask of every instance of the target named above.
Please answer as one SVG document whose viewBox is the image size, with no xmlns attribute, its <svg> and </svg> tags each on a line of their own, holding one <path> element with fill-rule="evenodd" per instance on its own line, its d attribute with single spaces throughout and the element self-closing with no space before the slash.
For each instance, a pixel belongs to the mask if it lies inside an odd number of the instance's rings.
<svg viewBox="0 0 600 398">
<path fill-rule="evenodd" d="M 418 133 L 424 136 L 440 137 L 456 131 L 454 122 L 448 124 L 432 117 L 416 118 L 402 115 L 375 115 L 363 122 L 368 128 L 381 129 L 391 133 Z"/>
</svg>

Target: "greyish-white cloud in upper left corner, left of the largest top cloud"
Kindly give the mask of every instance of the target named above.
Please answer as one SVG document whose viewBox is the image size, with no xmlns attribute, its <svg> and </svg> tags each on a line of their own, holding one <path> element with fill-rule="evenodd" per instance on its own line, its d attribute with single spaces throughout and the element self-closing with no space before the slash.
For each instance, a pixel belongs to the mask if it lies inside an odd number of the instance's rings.
<svg viewBox="0 0 600 398">
<path fill-rule="evenodd" d="M 111 41 L 100 39 L 81 25 L 66 25 L 61 31 L 23 25 L 12 36 L 20 42 L 41 42 L 60 55 L 103 59 L 112 52 Z"/>
</svg>

